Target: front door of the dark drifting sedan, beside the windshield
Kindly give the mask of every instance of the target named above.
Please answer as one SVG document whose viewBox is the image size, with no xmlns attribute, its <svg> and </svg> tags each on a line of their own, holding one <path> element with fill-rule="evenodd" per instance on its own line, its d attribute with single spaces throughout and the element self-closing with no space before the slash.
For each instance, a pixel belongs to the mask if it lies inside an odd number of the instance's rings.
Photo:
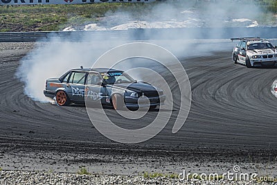
<svg viewBox="0 0 277 185">
<path fill-rule="evenodd" d="M 99 102 L 100 100 L 102 103 L 109 103 L 107 89 L 105 85 L 102 85 L 102 78 L 98 73 L 88 73 L 85 88 L 85 94 L 89 101 Z"/>
</svg>

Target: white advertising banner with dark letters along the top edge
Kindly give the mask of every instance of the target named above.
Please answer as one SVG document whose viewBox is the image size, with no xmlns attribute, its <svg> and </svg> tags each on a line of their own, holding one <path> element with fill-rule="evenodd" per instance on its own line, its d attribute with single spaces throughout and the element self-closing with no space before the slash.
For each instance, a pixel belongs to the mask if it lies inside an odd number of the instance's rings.
<svg viewBox="0 0 277 185">
<path fill-rule="evenodd" d="M 151 3 L 156 0 L 0 0 L 0 5 L 82 4 L 82 3 Z"/>
</svg>

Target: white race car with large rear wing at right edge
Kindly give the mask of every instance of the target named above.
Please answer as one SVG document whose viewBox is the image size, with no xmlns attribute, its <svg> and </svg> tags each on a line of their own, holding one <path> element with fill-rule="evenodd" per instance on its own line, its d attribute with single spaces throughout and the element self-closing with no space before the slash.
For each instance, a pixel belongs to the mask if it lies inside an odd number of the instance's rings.
<svg viewBox="0 0 277 185">
<path fill-rule="evenodd" d="M 233 62 L 247 67 L 277 66 L 277 50 L 268 40 L 260 37 L 231 38 L 240 40 L 233 49 Z"/>
</svg>

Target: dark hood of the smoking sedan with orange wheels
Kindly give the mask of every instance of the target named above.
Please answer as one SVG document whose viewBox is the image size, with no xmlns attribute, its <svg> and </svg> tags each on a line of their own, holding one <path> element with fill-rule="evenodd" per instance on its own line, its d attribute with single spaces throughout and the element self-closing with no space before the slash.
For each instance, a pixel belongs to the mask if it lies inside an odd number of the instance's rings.
<svg viewBox="0 0 277 185">
<path fill-rule="evenodd" d="M 134 82 L 134 83 L 118 83 L 114 84 L 114 87 L 120 87 L 123 89 L 128 89 L 135 92 L 141 91 L 157 91 L 152 85 L 144 82 Z"/>
</svg>

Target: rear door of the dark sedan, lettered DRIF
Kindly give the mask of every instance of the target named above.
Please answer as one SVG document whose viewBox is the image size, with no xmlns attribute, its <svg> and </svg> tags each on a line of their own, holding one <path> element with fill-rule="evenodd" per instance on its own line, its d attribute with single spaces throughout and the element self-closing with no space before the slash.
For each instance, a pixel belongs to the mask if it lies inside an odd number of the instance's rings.
<svg viewBox="0 0 277 185">
<path fill-rule="evenodd" d="M 72 71 L 66 84 L 66 93 L 76 103 L 84 101 L 84 82 L 87 76 L 85 71 Z"/>
</svg>

